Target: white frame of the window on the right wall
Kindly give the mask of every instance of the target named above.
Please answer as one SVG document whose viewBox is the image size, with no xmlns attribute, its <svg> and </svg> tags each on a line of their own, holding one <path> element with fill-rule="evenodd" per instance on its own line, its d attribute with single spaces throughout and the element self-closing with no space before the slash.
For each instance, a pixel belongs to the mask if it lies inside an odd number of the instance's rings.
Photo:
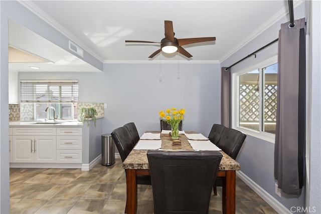
<svg viewBox="0 0 321 214">
<path fill-rule="evenodd" d="M 275 63 L 278 63 L 277 61 L 277 56 L 271 57 L 265 61 L 259 62 L 255 65 L 251 65 L 249 67 L 246 67 L 244 69 L 241 69 L 240 71 L 234 72 L 232 74 L 232 128 L 239 130 L 247 135 L 251 135 L 257 138 L 260 138 L 262 140 L 266 140 L 268 142 L 274 143 L 275 142 L 275 134 L 272 133 L 267 133 L 264 131 L 261 131 L 262 127 L 262 101 L 263 101 L 263 93 L 260 92 L 260 117 L 259 117 L 259 127 L 260 130 L 256 131 L 253 129 L 245 128 L 245 127 L 240 127 L 238 126 L 239 124 L 239 76 L 246 74 L 248 72 L 251 72 L 253 70 L 259 69 L 259 87 L 262 87 L 262 82 L 264 81 L 264 75 L 262 76 L 262 68 L 268 67 L 270 65 L 273 65 Z M 236 86 L 236 87 L 233 87 Z"/>
</svg>

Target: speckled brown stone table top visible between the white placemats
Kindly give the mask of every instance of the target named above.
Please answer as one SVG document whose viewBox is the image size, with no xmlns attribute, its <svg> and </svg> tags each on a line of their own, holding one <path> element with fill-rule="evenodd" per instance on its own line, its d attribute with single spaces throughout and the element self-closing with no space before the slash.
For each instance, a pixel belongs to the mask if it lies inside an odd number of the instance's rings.
<svg viewBox="0 0 321 214">
<path fill-rule="evenodd" d="M 195 133 L 195 132 L 194 132 Z M 193 150 L 192 146 L 188 142 L 185 134 L 180 134 L 179 139 L 182 140 L 181 146 L 173 146 L 172 139 L 168 134 L 161 134 L 162 139 L 162 149 L 166 150 Z M 220 151 L 223 154 L 223 158 L 220 163 L 219 170 L 240 170 L 240 164 L 225 154 L 223 151 Z M 148 159 L 147 159 L 147 150 L 135 150 L 132 149 L 128 154 L 127 158 L 123 162 L 124 169 L 149 169 Z"/>
</svg>

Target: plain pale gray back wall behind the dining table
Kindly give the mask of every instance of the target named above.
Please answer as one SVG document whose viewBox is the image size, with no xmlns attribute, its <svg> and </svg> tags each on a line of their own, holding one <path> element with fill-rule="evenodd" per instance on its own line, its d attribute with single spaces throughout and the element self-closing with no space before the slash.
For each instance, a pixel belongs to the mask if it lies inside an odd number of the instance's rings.
<svg viewBox="0 0 321 214">
<path fill-rule="evenodd" d="M 127 122 L 135 122 L 140 135 L 160 130 L 158 112 L 176 107 L 186 109 L 184 130 L 208 135 L 213 123 L 220 121 L 220 66 L 181 63 L 179 67 L 180 79 L 178 64 L 105 64 L 104 131 Z"/>
</svg>

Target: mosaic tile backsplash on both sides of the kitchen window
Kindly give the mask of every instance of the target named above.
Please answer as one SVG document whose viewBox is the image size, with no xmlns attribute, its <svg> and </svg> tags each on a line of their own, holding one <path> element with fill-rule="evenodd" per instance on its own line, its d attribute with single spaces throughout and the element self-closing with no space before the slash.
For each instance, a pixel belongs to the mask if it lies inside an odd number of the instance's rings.
<svg viewBox="0 0 321 214">
<path fill-rule="evenodd" d="M 104 104 L 103 103 L 78 103 L 78 119 L 80 118 L 81 108 L 94 107 L 98 113 L 97 117 L 104 116 Z M 9 121 L 30 121 L 34 120 L 34 104 L 33 103 L 20 103 L 9 104 L 10 114 Z"/>
</svg>

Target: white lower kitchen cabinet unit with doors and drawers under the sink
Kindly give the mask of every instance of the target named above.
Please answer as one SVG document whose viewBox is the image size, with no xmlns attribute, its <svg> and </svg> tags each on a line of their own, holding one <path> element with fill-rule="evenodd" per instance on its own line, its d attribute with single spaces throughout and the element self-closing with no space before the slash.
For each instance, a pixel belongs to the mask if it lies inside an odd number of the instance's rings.
<svg viewBox="0 0 321 214">
<path fill-rule="evenodd" d="M 79 167 L 82 164 L 82 127 L 14 126 L 12 167 Z M 47 164 L 47 165 L 46 165 Z"/>
</svg>

